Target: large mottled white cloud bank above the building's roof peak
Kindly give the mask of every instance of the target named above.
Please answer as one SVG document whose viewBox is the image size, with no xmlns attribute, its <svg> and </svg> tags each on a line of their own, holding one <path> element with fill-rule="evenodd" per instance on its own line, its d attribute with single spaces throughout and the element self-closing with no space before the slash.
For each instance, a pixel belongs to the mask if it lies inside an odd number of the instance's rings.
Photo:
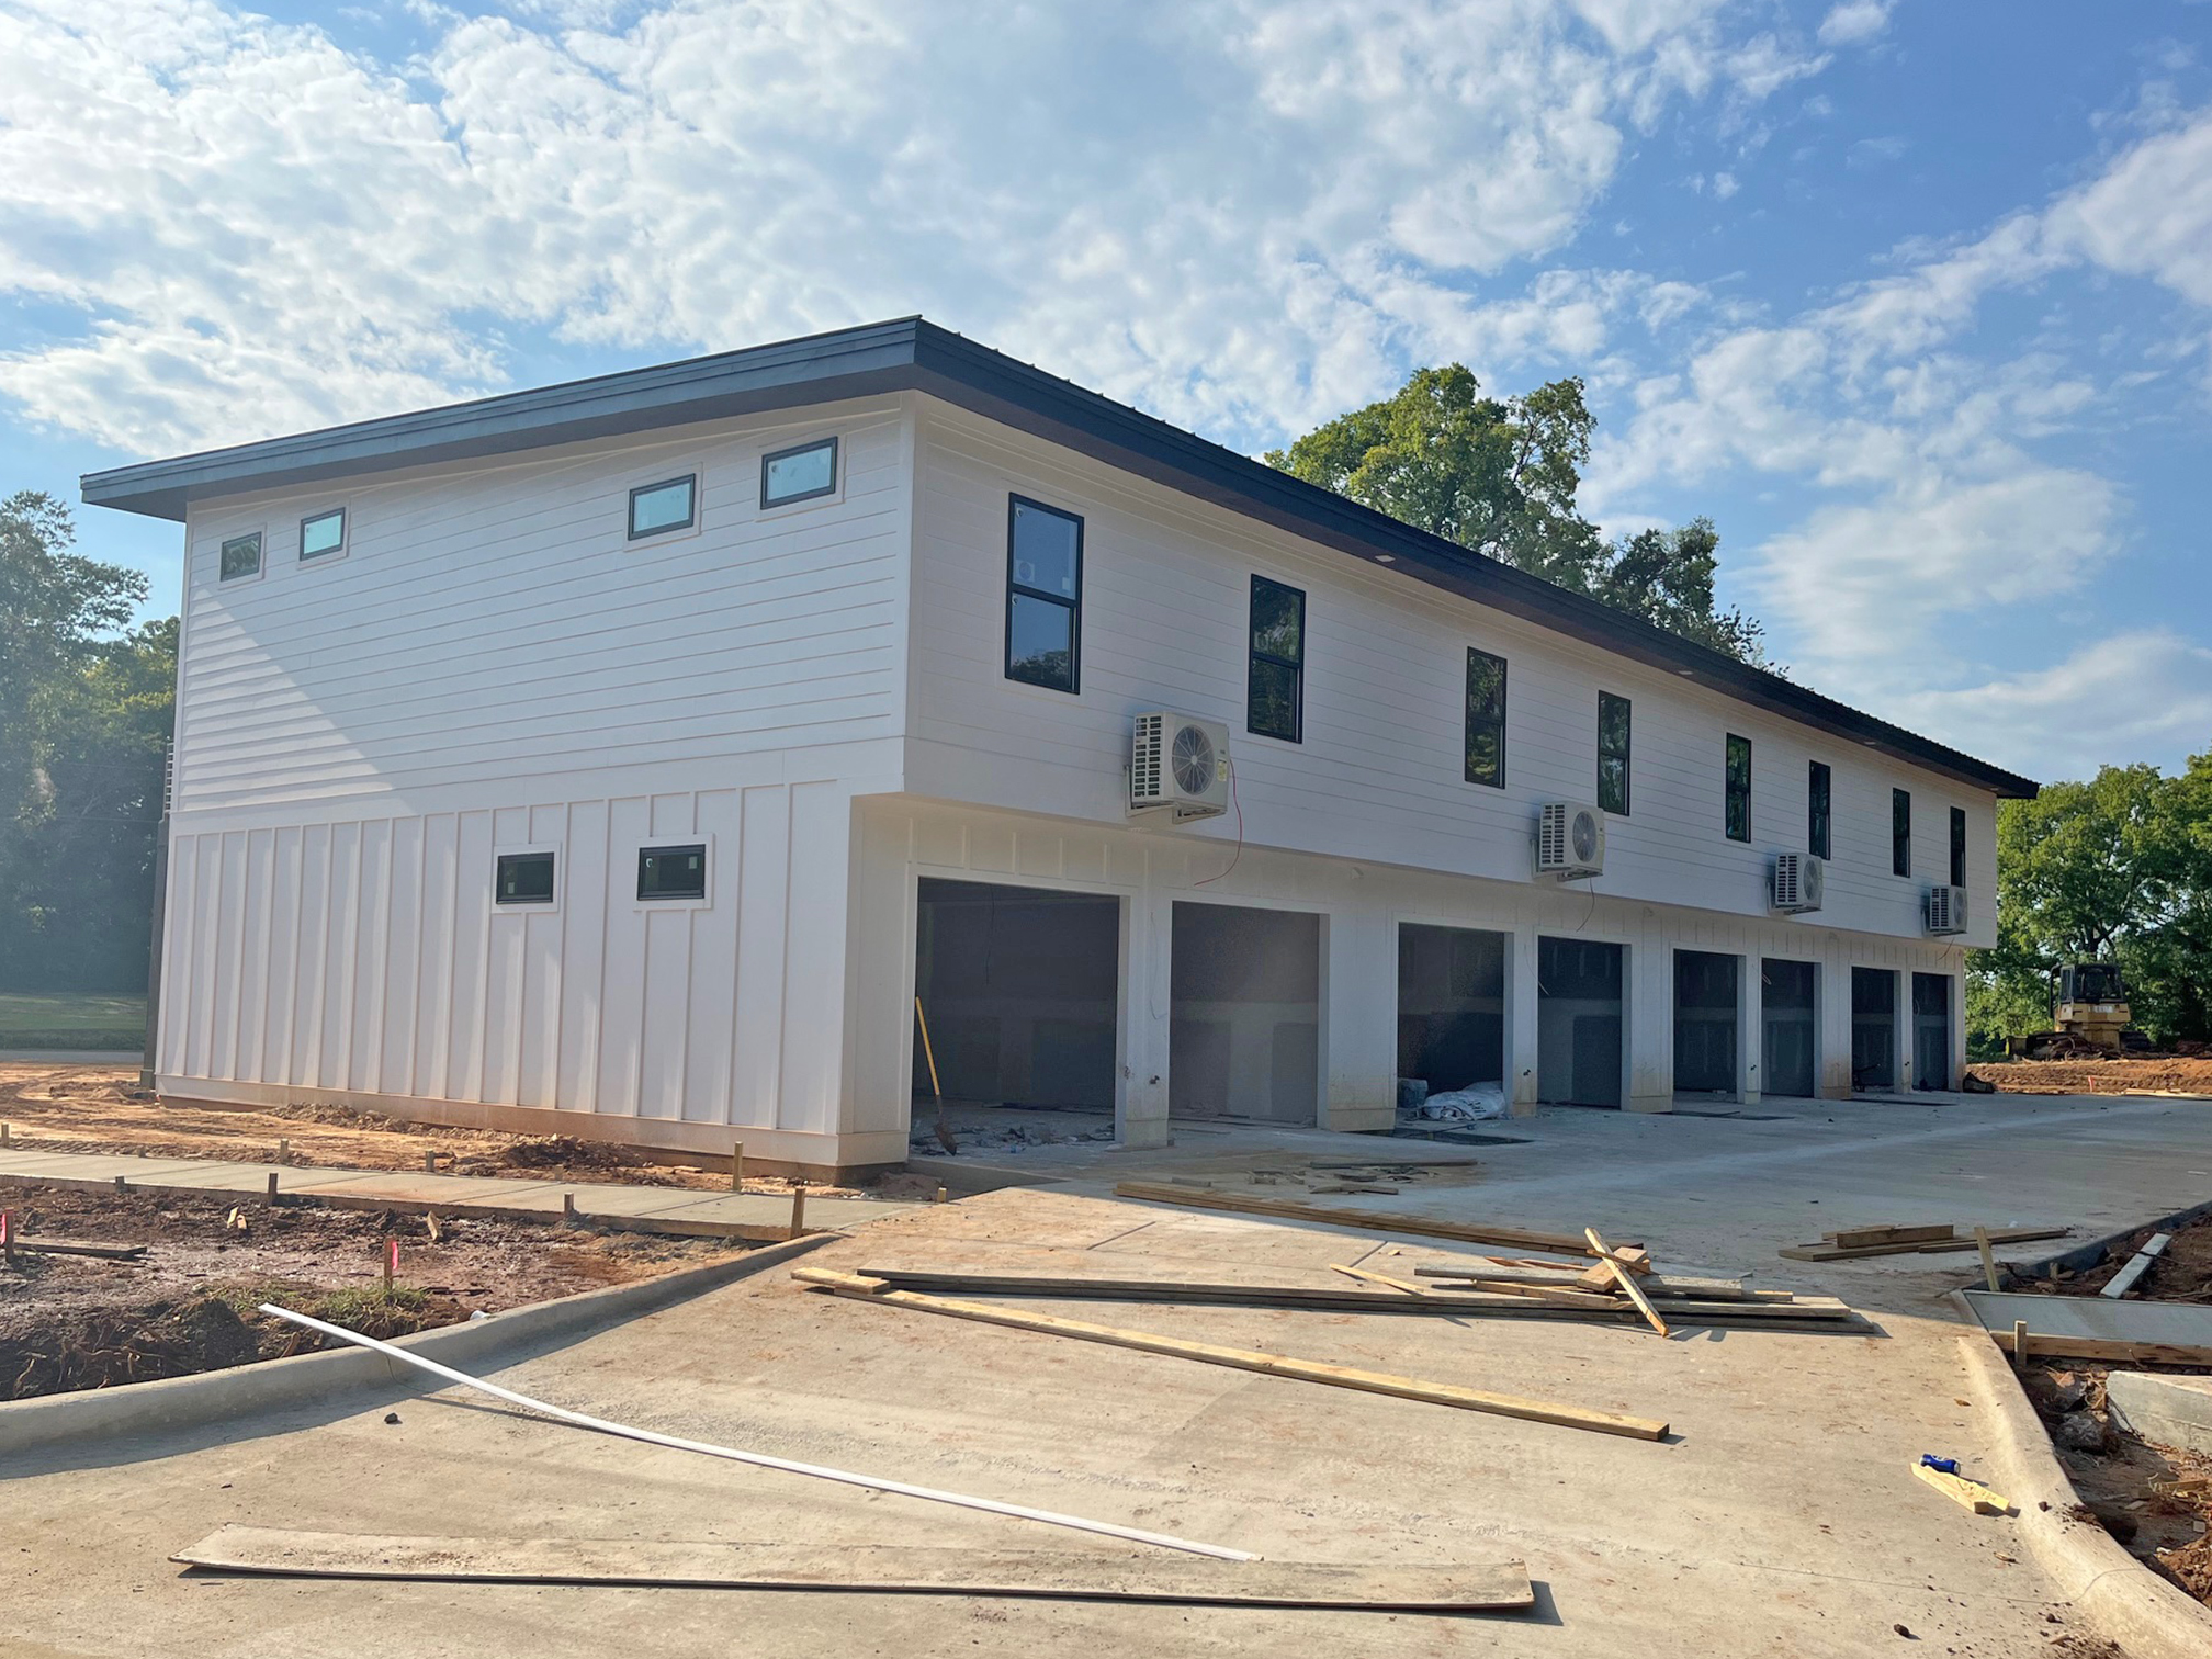
<svg viewBox="0 0 2212 1659">
<path fill-rule="evenodd" d="M 159 451 L 498 389 L 513 330 L 675 356 L 925 310 L 1270 440 L 1409 349 L 1599 349 L 1604 283 L 1475 285 L 1577 232 L 1632 122 L 1809 73 L 1725 11 L 526 0 L 420 7 L 400 73 L 215 0 L 15 0 L 0 292 L 84 327 L 0 392 Z"/>
</svg>

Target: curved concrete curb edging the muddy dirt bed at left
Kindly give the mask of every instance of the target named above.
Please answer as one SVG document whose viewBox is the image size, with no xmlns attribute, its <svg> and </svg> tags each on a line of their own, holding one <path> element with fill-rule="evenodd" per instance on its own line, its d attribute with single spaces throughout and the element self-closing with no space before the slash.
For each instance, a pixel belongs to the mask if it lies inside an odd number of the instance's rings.
<svg viewBox="0 0 2212 1659">
<path fill-rule="evenodd" d="M 641 1279 L 633 1285 L 586 1290 L 580 1296 L 560 1296 L 549 1303 L 513 1307 L 504 1314 L 469 1321 L 467 1325 L 416 1332 L 414 1336 L 398 1338 L 396 1347 L 422 1354 L 440 1365 L 467 1369 L 482 1360 L 504 1358 L 533 1343 L 577 1340 L 604 1325 L 688 1301 L 841 1237 L 836 1232 L 812 1232 L 805 1239 L 748 1250 L 732 1261 L 710 1261 L 703 1267 L 684 1267 L 657 1279 Z M 321 1354 L 294 1354 L 283 1360 L 261 1360 L 257 1365 L 234 1365 L 226 1371 L 175 1376 L 159 1383 L 126 1383 L 113 1389 L 7 1400 L 0 1402 L 0 1458 L 40 1447 L 108 1442 L 124 1436 L 197 1429 L 365 1387 L 427 1394 L 445 1385 L 383 1354 L 343 1347 Z"/>
</svg>

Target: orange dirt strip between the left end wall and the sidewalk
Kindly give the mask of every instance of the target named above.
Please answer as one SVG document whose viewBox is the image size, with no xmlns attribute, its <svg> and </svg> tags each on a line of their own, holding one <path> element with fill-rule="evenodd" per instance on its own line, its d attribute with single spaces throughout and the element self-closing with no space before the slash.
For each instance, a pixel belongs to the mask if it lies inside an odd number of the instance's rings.
<svg viewBox="0 0 2212 1659">
<path fill-rule="evenodd" d="M 292 1164 L 345 1170 L 420 1170 L 438 1155 L 440 1175 L 513 1175 L 622 1181 L 728 1192 L 730 1168 L 655 1164 L 619 1146 L 566 1135 L 500 1135 L 478 1128 L 400 1124 L 341 1106 L 210 1110 L 155 1099 L 131 1066 L 75 1066 L 0 1060 L 0 1119 L 9 1137 L 40 1152 L 148 1152 L 274 1161 L 276 1141 Z M 745 1192 L 790 1192 L 772 1175 L 745 1177 Z M 852 1197 L 854 1188 L 807 1186 L 816 1197 Z"/>
</svg>

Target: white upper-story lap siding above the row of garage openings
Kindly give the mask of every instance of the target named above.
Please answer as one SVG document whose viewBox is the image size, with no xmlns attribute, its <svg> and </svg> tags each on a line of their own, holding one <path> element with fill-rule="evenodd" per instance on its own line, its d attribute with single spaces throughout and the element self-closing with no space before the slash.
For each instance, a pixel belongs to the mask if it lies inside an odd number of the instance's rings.
<svg viewBox="0 0 2212 1659">
<path fill-rule="evenodd" d="M 1082 695 L 1004 679 L 1006 495 L 1084 515 Z M 1632 812 L 1608 821 L 1597 891 L 1767 916 L 1772 856 L 1805 849 L 1807 761 L 1834 770 L 1827 909 L 1803 927 L 1920 936 L 1969 814 L 1973 933 L 1993 936 L 1995 801 L 1734 703 L 1595 646 L 1254 526 L 945 405 L 916 458 L 907 787 L 980 805 L 1126 821 L 1128 719 L 1230 726 L 1243 836 L 1447 874 L 1531 880 L 1542 801 L 1595 801 L 1597 692 L 1635 703 Z M 1305 741 L 1252 737 L 1252 575 L 1307 593 Z M 1509 661 L 1506 787 L 1464 781 L 1467 648 Z M 1752 739 L 1752 841 L 1723 834 L 1723 741 Z M 1889 874 L 1889 790 L 1913 792 L 1913 876 Z M 1234 843 L 1237 821 L 1177 832 Z M 1223 847 L 1223 856 L 1228 847 Z"/>
</svg>

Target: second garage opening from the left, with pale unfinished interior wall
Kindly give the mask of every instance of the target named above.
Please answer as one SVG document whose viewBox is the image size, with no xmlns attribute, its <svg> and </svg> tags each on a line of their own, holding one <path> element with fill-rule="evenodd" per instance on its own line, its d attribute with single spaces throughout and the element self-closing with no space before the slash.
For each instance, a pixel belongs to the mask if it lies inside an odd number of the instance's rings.
<svg viewBox="0 0 2212 1659">
<path fill-rule="evenodd" d="M 1321 1121 L 1321 918 L 1177 905 L 1168 1115 Z"/>
</svg>

